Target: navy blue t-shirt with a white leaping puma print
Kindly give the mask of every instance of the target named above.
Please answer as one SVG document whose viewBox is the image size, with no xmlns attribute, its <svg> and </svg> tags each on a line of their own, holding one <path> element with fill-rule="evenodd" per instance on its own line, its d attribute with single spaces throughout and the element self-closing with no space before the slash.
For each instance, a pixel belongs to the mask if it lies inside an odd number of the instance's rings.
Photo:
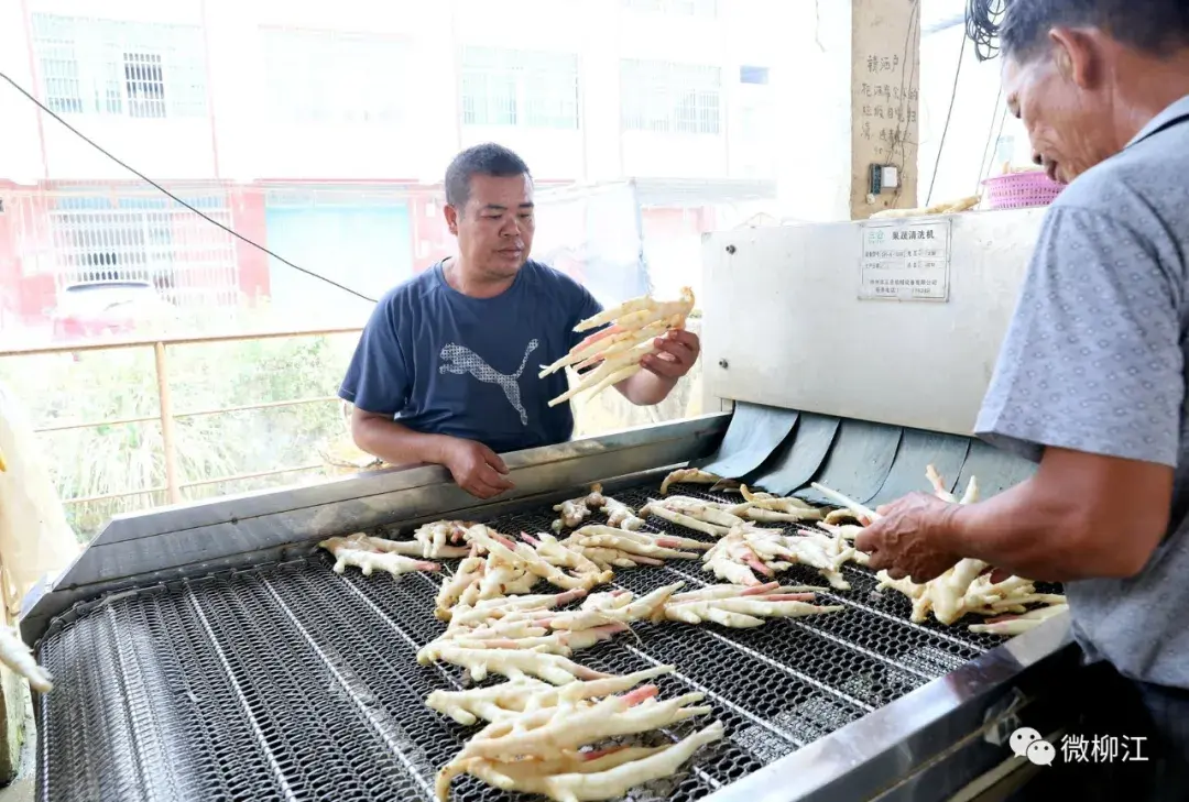
<svg viewBox="0 0 1189 802">
<path fill-rule="evenodd" d="M 573 412 L 548 402 L 566 392 L 565 371 L 537 373 L 587 336 L 574 326 L 600 311 L 585 288 L 537 261 L 495 298 L 463 295 L 438 263 L 380 298 L 339 396 L 498 453 L 561 443 Z"/>
</svg>

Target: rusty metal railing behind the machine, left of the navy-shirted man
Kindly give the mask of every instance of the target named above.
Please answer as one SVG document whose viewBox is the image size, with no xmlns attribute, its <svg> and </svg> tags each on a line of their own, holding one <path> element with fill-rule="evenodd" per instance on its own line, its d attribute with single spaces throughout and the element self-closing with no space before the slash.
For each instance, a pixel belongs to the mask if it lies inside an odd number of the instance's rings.
<svg viewBox="0 0 1189 802">
<path fill-rule="evenodd" d="M 182 471 L 177 454 L 176 422 L 178 418 L 193 418 L 206 415 L 225 415 L 229 412 L 243 412 L 249 410 L 279 409 L 287 406 L 300 406 L 304 404 L 325 404 L 338 402 L 336 396 L 313 396 L 304 398 L 291 398 L 279 402 L 265 402 L 260 404 L 240 404 L 235 406 L 219 406 L 213 409 L 197 409 L 175 411 L 174 397 L 169 383 L 169 348 L 171 346 L 207 345 L 214 342 L 243 342 L 249 340 L 276 340 L 282 337 L 317 337 L 333 334 L 359 334 L 360 327 L 322 328 L 322 329 L 292 329 L 292 330 L 266 330 L 266 331 L 241 331 L 234 334 L 200 334 L 176 337 L 143 337 L 106 340 L 102 342 L 80 342 L 73 345 L 34 346 L 30 348 L 0 349 L 0 358 L 4 356 L 46 356 L 55 354 L 75 354 L 92 351 L 117 351 L 126 348 L 152 348 L 153 371 L 157 379 L 158 413 L 139 417 L 107 418 L 102 421 L 73 421 L 54 425 L 37 427 L 36 434 L 49 434 L 55 431 L 68 431 L 73 429 L 96 429 L 100 427 L 150 423 L 161 423 L 162 447 L 165 457 L 165 484 L 157 487 L 121 491 L 118 493 L 106 493 L 102 495 L 88 495 L 62 499 L 63 504 L 87 504 L 93 501 L 107 501 L 133 495 L 151 495 L 153 493 L 165 493 L 170 504 L 182 503 L 182 491 L 189 487 L 202 487 L 219 485 L 229 481 L 246 479 L 259 479 L 263 476 L 276 476 L 287 473 L 302 473 L 322 467 L 321 462 L 310 465 L 275 468 L 272 471 L 257 471 L 252 473 L 239 473 L 214 479 L 200 479 L 194 481 L 182 481 Z"/>
</svg>

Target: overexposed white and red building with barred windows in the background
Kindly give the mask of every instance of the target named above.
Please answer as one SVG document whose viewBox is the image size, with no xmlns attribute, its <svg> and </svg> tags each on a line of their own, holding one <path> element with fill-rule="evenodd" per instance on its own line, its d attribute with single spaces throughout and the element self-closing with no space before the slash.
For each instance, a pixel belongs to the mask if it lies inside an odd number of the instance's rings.
<svg viewBox="0 0 1189 802">
<path fill-rule="evenodd" d="M 376 297 L 448 253 L 441 175 L 487 140 L 545 187 L 638 182 L 654 261 L 687 260 L 774 195 L 776 1 L 6 2 L 0 71 L 107 153 L 0 87 L 0 327 L 97 280 L 333 296 L 220 225 Z"/>
</svg>

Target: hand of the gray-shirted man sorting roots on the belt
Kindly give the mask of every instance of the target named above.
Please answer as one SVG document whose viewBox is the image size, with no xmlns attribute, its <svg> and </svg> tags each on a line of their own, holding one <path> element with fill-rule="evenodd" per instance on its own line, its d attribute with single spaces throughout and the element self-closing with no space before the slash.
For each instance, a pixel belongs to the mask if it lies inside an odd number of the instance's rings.
<svg viewBox="0 0 1189 802">
<path fill-rule="evenodd" d="M 858 533 L 855 548 L 872 556 L 873 570 L 886 568 L 892 579 L 927 582 L 958 561 L 944 547 L 956 509 L 936 495 L 912 493 L 876 510 L 882 517 Z"/>
</svg>

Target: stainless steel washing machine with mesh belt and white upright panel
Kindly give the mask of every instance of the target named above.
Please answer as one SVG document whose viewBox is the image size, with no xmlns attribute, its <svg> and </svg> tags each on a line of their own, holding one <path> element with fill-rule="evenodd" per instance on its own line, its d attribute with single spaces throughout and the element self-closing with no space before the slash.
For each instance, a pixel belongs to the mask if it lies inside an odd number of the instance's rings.
<svg viewBox="0 0 1189 802">
<path fill-rule="evenodd" d="M 593 481 L 638 505 L 685 463 L 809 498 L 818 480 L 863 503 L 926 488 L 929 463 L 955 486 L 977 475 L 984 495 L 1021 480 L 1031 466 L 967 435 L 1040 214 L 709 236 L 704 371 L 732 411 L 510 455 L 516 490 L 496 503 L 430 467 L 117 518 L 25 602 L 23 637 L 56 681 L 36 706 L 38 798 L 432 798 L 471 734 L 423 703 L 463 687 L 461 671 L 414 659 L 443 626 L 439 579 L 335 574 L 316 548 L 331 535 L 438 518 L 539 531 Z M 788 580 L 817 579 L 799 571 Z M 1011 640 L 912 624 L 905 599 L 875 593 L 864 569 L 847 575 L 853 589 L 829 594 L 843 613 L 640 625 L 579 652 L 615 672 L 675 664 L 662 692 L 704 692 L 726 725 L 630 798 L 975 798 L 1021 763 L 1017 726 L 1061 726 L 1064 619 Z M 615 582 L 677 579 L 712 581 L 671 563 Z M 512 797 L 467 779 L 453 798 Z"/>
</svg>

